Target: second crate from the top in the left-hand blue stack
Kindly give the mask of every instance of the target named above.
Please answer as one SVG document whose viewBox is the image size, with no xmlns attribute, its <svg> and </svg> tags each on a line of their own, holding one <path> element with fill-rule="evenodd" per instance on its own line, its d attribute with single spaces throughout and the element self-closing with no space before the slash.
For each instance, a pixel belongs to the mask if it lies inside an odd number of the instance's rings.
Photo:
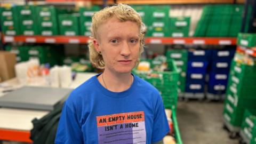
<svg viewBox="0 0 256 144">
<path fill-rule="evenodd" d="M 207 61 L 188 61 L 187 71 L 191 71 L 193 73 L 205 73 L 207 66 Z"/>
</svg>

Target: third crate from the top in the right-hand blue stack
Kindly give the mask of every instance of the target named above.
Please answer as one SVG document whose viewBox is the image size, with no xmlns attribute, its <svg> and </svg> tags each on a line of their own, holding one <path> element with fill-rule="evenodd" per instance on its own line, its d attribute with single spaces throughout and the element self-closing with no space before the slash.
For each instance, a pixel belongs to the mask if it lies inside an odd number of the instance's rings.
<svg viewBox="0 0 256 144">
<path fill-rule="evenodd" d="M 210 73 L 209 85 L 227 85 L 228 83 L 228 73 Z"/>
</svg>

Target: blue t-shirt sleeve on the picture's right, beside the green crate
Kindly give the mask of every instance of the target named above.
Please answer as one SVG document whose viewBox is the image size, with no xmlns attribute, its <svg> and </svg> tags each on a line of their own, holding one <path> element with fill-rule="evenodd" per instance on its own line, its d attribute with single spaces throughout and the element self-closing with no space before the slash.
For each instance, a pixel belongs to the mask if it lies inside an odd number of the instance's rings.
<svg viewBox="0 0 256 144">
<path fill-rule="evenodd" d="M 167 122 L 162 97 L 161 95 L 158 95 L 155 106 L 153 134 L 151 142 L 158 142 L 162 140 L 169 131 L 170 128 Z"/>
</svg>

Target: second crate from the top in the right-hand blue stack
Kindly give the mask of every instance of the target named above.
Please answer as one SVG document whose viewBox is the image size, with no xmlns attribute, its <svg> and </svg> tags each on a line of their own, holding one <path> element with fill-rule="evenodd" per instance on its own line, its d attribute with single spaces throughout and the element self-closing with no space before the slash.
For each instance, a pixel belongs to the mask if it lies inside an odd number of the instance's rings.
<svg viewBox="0 0 256 144">
<path fill-rule="evenodd" d="M 231 61 L 211 61 L 210 71 L 215 73 L 229 73 Z"/>
</svg>

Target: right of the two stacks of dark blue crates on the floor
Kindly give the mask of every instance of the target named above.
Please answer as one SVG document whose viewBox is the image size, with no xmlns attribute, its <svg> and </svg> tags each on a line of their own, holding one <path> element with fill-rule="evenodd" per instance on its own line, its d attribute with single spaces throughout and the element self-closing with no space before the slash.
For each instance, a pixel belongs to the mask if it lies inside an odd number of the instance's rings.
<svg viewBox="0 0 256 144">
<path fill-rule="evenodd" d="M 212 50 L 209 67 L 209 83 L 207 93 L 225 94 L 231 60 L 235 50 Z M 208 95 L 207 94 L 207 95 Z"/>
</svg>

